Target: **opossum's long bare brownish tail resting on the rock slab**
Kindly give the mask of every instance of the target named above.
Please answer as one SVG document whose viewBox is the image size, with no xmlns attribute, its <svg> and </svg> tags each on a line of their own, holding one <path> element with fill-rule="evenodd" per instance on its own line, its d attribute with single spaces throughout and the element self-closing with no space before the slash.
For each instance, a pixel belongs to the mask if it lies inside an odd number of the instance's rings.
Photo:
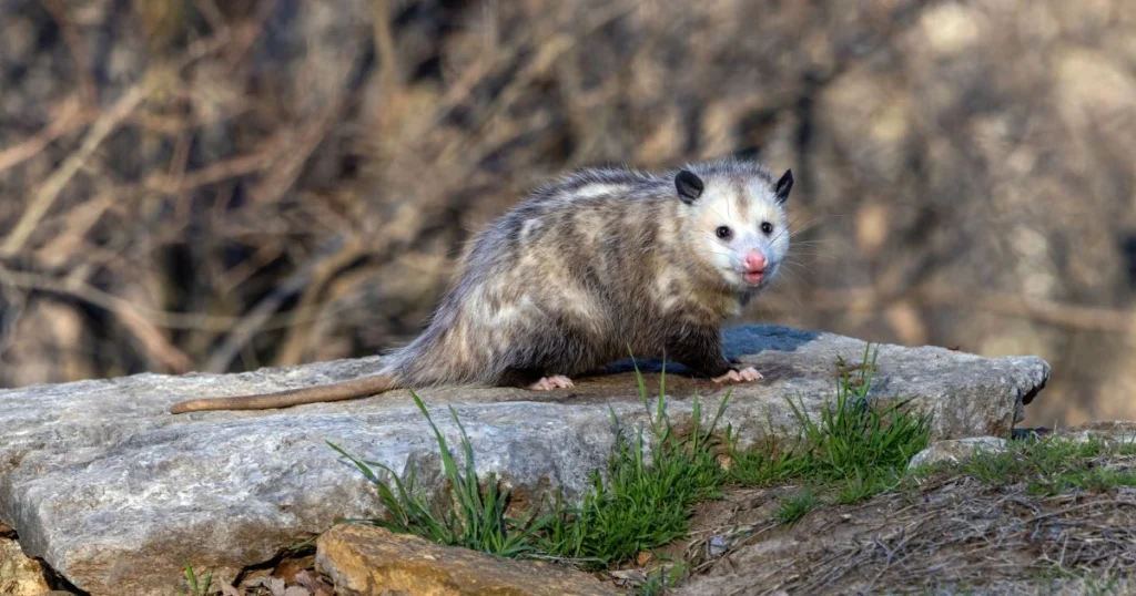
<svg viewBox="0 0 1136 596">
<path fill-rule="evenodd" d="M 169 409 L 169 413 L 183 414 L 186 412 L 201 412 L 206 410 L 272 410 L 275 408 L 291 408 L 306 403 L 340 402 L 343 400 L 354 400 L 367 397 L 391 389 L 399 389 L 402 384 L 394 375 L 374 375 L 359 379 L 333 383 L 331 385 L 318 385 L 316 387 L 303 387 L 300 389 L 287 389 L 276 393 L 261 393 L 256 395 L 241 395 L 237 397 L 211 397 L 207 400 L 190 400 L 179 402 Z"/>
</svg>

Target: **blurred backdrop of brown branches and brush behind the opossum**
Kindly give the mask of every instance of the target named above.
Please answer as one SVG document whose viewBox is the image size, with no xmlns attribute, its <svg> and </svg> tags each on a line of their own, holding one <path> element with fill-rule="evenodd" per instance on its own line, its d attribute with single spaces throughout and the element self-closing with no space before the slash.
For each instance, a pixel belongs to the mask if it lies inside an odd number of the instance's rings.
<svg viewBox="0 0 1136 596">
<path fill-rule="evenodd" d="M 797 181 L 746 320 L 1136 418 L 1131 0 L 0 0 L 0 384 L 376 353 L 535 184 L 730 154 Z"/>
</svg>

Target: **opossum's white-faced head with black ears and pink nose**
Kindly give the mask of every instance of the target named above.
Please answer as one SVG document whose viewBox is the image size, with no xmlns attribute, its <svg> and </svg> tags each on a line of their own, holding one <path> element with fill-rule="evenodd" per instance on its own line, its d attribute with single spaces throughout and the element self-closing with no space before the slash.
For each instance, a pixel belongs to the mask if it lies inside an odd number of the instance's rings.
<svg viewBox="0 0 1136 596">
<path fill-rule="evenodd" d="M 700 175 L 701 174 L 701 175 Z M 730 168 L 675 175 L 678 199 L 690 209 L 687 242 L 707 266 L 738 291 L 776 278 L 788 252 L 785 201 L 793 171 L 772 182 L 763 169 Z"/>
</svg>

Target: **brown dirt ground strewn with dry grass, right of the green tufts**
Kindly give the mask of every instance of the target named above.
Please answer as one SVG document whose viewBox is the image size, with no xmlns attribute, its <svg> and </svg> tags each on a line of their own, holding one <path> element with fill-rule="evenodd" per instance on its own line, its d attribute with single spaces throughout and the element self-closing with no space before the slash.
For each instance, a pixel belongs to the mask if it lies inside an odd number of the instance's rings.
<svg viewBox="0 0 1136 596">
<path fill-rule="evenodd" d="M 1130 469 L 1136 459 L 1102 465 Z M 864 503 L 772 521 L 792 488 L 742 489 L 701 505 L 692 563 L 668 594 L 1129 594 L 1136 488 L 1033 496 L 942 473 Z"/>
</svg>

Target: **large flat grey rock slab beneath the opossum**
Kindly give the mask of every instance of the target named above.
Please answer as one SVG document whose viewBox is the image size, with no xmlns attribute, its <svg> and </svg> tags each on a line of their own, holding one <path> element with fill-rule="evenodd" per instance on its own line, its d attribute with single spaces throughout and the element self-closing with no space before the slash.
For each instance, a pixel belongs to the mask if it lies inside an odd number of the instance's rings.
<svg viewBox="0 0 1136 596">
<path fill-rule="evenodd" d="M 721 427 L 742 446 L 793 436 L 788 400 L 817 415 L 836 389 L 835 362 L 859 362 L 861 341 L 785 327 L 728 330 L 730 355 L 766 379 L 733 388 Z M 985 359 L 937 347 L 880 345 L 871 394 L 910 398 L 934 414 L 935 438 L 1008 437 L 1049 366 L 1030 356 Z M 326 444 L 403 470 L 415 460 L 428 488 L 442 486 L 436 445 L 404 391 L 353 402 L 266 412 L 172 415 L 175 402 L 321 384 L 377 370 L 382 359 L 262 369 L 241 375 L 137 375 L 0 393 L 0 522 L 92 594 L 167 594 L 189 562 L 231 579 L 282 547 L 344 518 L 381 513 L 376 492 Z M 570 495 L 603 469 L 610 413 L 634 428 L 648 418 L 634 376 L 578 379 L 535 393 L 452 387 L 420 392 L 449 440 L 452 404 L 476 452 L 517 494 L 562 486 Z M 624 371 L 624 372 L 619 372 Z M 657 387 L 658 375 L 646 376 Z M 668 412 L 691 423 L 692 400 L 710 417 L 722 389 L 668 376 Z M 610 409 L 610 410 L 609 410 Z"/>
</svg>

